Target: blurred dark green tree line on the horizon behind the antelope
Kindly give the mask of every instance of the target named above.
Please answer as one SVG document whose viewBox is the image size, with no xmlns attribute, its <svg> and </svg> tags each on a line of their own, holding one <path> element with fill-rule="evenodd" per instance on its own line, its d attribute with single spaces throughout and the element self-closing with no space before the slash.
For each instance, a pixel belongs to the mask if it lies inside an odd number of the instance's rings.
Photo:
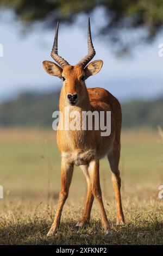
<svg viewBox="0 0 163 256">
<path fill-rule="evenodd" d="M 50 127 L 58 110 L 60 92 L 26 92 L 0 103 L 0 127 Z M 163 96 L 154 100 L 122 103 L 122 127 L 163 127 Z M 25 113 L 25 114 L 24 114 Z"/>
</svg>

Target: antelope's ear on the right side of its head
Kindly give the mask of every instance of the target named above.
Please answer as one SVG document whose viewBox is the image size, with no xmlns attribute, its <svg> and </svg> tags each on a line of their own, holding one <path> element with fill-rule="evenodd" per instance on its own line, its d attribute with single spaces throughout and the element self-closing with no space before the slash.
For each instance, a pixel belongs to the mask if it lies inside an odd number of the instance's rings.
<svg viewBox="0 0 163 256">
<path fill-rule="evenodd" d="M 85 78 L 89 76 L 96 75 L 102 68 L 103 61 L 101 59 L 95 60 L 91 62 L 89 65 L 86 66 L 84 69 L 85 71 Z"/>
</svg>

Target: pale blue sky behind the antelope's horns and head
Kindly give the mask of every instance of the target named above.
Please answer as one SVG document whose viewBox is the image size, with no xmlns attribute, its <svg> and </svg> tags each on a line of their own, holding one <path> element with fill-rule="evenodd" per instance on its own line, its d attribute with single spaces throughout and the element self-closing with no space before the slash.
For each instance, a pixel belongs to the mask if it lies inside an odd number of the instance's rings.
<svg viewBox="0 0 163 256">
<path fill-rule="evenodd" d="M 92 36 L 96 33 L 95 19 Z M 59 54 L 69 63 L 75 64 L 87 52 L 87 28 L 60 24 Z M 28 35 L 20 32 L 20 24 L 1 21 L 0 44 L 4 46 L 4 57 L 0 57 L 0 100 L 26 90 L 54 90 L 60 88 L 57 77 L 46 74 L 43 60 L 52 60 L 50 52 L 54 31 L 33 28 Z M 158 45 L 163 36 L 152 45 L 133 48 L 133 58 L 117 58 L 106 41 L 93 36 L 95 59 L 104 62 L 101 72 L 90 77 L 87 87 L 104 87 L 120 100 L 134 97 L 153 97 L 163 94 L 162 64 L 158 56 Z"/>
</svg>

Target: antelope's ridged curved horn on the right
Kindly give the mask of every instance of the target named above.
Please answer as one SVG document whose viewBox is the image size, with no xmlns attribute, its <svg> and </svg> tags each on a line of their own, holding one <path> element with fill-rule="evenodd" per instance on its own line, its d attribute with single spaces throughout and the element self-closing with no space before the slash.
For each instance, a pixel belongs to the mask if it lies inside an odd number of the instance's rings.
<svg viewBox="0 0 163 256">
<path fill-rule="evenodd" d="M 84 67 L 90 62 L 91 59 L 95 56 L 96 52 L 93 47 L 92 43 L 92 37 L 91 37 L 91 26 L 90 26 L 90 18 L 88 21 L 88 30 L 87 30 L 87 47 L 88 47 L 88 53 L 87 55 L 78 62 L 78 65 L 83 65 Z"/>
</svg>

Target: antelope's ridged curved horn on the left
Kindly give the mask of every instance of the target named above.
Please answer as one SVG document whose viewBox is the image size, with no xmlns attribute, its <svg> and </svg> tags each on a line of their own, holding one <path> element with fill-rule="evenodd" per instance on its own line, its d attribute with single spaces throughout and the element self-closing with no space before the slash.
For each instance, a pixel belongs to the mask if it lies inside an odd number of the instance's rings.
<svg viewBox="0 0 163 256">
<path fill-rule="evenodd" d="M 58 26 L 59 26 L 59 21 L 57 23 L 57 28 L 55 31 L 55 37 L 54 37 L 54 43 L 53 43 L 53 48 L 51 52 L 51 57 L 57 62 L 61 68 L 64 68 L 65 65 L 69 65 L 68 62 L 64 58 L 58 55 Z"/>
</svg>

